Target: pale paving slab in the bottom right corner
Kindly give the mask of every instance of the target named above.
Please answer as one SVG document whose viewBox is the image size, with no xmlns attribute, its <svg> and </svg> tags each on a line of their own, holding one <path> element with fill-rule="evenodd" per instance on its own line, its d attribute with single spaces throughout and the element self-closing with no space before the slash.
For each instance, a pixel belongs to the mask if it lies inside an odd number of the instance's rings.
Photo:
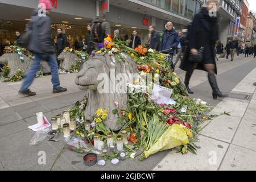
<svg viewBox="0 0 256 182">
<path fill-rule="evenodd" d="M 224 171 L 255 171 L 256 151 L 247 150 L 240 146 L 230 145 L 222 162 L 220 170 Z"/>
</svg>

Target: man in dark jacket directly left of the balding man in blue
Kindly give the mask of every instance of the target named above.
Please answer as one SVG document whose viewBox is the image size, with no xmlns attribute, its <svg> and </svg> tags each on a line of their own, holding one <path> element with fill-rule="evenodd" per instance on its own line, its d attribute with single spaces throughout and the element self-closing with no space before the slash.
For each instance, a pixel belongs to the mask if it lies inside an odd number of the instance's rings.
<svg viewBox="0 0 256 182">
<path fill-rule="evenodd" d="M 160 39 L 158 32 L 155 31 L 155 26 L 151 25 L 148 28 L 148 32 L 149 34 L 146 46 L 148 48 L 154 49 L 155 51 L 159 51 Z"/>
</svg>

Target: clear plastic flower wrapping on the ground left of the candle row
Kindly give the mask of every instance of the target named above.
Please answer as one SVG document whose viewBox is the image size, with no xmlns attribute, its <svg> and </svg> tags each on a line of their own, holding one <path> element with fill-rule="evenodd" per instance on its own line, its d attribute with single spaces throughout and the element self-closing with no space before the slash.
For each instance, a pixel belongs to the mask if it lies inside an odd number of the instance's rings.
<svg viewBox="0 0 256 182">
<path fill-rule="evenodd" d="M 70 139 L 65 140 L 67 143 L 68 150 L 78 152 L 80 154 L 85 154 L 85 153 L 93 153 L 96 155 L 99 155 L 100 152 L 95 150 L 94 147 L 92 147 L 90 144 L 86 144 L 84 140 L 81 140 L 76 137 L 72 137 Z"/>
</svg>

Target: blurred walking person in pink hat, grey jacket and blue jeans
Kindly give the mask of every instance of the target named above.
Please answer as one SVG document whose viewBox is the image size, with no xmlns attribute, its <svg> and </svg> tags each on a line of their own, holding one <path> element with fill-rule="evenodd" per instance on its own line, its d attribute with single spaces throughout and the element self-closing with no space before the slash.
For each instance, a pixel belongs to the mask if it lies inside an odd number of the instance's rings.
<svg viewBox="0 0 256 182">
<path fill-rule="evenodd" d="M 49 0 L 40 0 L 39 3 L 44 3 L 46 5 L 46 14 L 39 16 L 40 10 L 35 10 L 32 13 L 31 21 L 27 24 L 27 29 L 32 31 L 28 50 L 34 53 L 35 59 L 19 90 L 19 93 L 24 96 L 36 95 L 35 92 L 31 92 L 28 88 L 32 84 L 42 60 L 47 60 L 51 67 L 53 93 L 67 91 L 67 88 L 62 88 L 60 86 L 59 69 L 54 56 L 55 48 L 51 39 L 51 18 L 49 17 L 49 10 L 52 9 L 52 4 Z"/>
</svg>

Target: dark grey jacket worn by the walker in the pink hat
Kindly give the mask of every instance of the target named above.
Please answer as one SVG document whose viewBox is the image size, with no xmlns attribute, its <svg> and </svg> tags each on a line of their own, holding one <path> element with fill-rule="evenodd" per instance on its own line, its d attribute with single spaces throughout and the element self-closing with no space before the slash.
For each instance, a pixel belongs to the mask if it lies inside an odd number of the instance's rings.
<svg viewBox="0 0 256 182">
<path fill-rule="evenodd" d="M 27 29 L 32 30 L 28 50 L 32 53 L 53 54 L 55 52 L 52 43 L 51 18 L 46 16 L 38 16 L 38 10 L 34 10 L 31 21 L 27 24 Z"/>
</svg>

